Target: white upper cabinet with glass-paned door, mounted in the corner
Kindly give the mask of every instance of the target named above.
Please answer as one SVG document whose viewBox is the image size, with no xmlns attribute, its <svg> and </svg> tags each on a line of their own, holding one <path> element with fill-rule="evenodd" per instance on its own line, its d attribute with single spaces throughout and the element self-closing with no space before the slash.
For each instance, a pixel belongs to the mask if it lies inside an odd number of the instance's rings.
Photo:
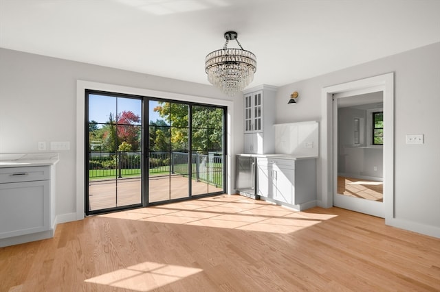
<svg viewBox="0 0 440 292">
<path fill-rule="evenodd" d="M 276 87 L 258 86 L 244 93 L 244 153 L 274 153 Z"/>
</svg>

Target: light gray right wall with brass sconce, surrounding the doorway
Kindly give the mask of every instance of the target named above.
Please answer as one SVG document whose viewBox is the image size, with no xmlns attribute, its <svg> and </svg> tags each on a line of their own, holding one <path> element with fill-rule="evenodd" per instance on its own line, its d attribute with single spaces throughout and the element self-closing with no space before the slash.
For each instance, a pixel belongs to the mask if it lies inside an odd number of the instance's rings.
<svg viewBox="0 0 440 292">
<path fill-rule="evenodd" d="M 323 87 L 390 72 L 395 73 L 393 225 L 440 237 L 440 42 L 280 87 L 276 123 L 321 120 Z M 293 91 L 300 93 L 298 104 L 287 106 Z M 424 134 L 425 143 L 406 145 L 406 134 Z M 319 158 L 318 169 L 321 165 Z M 320 171 L 317 176 L 320 192 Z"/>
</svg>

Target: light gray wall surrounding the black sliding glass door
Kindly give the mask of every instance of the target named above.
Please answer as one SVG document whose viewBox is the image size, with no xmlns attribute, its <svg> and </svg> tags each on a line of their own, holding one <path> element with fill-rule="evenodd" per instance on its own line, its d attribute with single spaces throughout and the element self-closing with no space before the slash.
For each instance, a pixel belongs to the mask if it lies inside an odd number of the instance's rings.
<svg viewBox="0 0 440 292">
<path fill-rule="evenodd" d="M 238 139 L 234 141 L 229 154 L 234 157 L 234 154 L 242 151 L 243 98 L 240 95 L 231 98 L 208 85 L 0 48 L 0 153 L 38 152 L 39 141 L 46 141 L 47 146 L 50 141 L 70 142 L 68 151 L 58 151 L 58 221 L 66 221 L 74 216 L 77 193 L 83 192 L 76 189 L 76 120 L 83 116 L 83 113 L 76 112 L 77 80 L 146 88 L 173 96 L 176 96 L 173 93 L 192 95 L 195 100 L 197 97 L 207 97 L 213 104 L 219 104 L 221 100 L 229 104 L 232 102 L 232 137 L 228 138 L 238 136 Z M 234 160 L 231 165 L 233 169 Z"/>
</svg>

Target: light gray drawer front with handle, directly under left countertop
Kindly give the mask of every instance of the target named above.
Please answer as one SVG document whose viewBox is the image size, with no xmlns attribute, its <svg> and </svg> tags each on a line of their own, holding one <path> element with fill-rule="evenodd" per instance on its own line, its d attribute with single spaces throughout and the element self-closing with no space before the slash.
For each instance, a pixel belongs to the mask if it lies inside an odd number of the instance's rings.
<svg viewBox="0 0 440 292">
<path fill-rule="evenodd" d="M 49 180 L 50 167 L 6 167 L 0 169 L 0 184 Z"/>
</svg>

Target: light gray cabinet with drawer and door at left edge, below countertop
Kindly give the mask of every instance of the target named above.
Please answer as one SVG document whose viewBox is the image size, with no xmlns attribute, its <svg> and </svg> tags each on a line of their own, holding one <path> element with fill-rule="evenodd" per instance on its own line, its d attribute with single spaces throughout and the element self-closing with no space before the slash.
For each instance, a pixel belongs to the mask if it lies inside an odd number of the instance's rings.
<svg viewBox="0 0 440 292">
<path fill-rule="evenodd" d="M 0 168 L 0 246 L 14 236 L 51 230 L 51 167 Z M 40 239 L 40 238 L 38 238 Z"/>
</svg>

